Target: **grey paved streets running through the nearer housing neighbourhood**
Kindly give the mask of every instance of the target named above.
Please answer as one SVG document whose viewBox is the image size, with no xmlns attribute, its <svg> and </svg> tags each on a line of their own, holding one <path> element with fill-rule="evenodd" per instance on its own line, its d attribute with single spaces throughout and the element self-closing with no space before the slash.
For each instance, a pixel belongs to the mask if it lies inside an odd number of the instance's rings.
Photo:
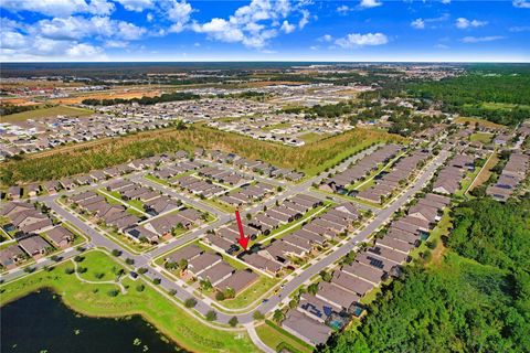
<svg viewBox="0 0 530 353">
<path fill-rule="evenodd" d="M 370 148 L 367 151 L 363 151 L 363 152 L 361 152 L 357 156 L 353 156 L 353 157 L 349 158 L 347 161 L 344 161 L 340 165 L 337 165 L 336 168 L 333 168 L 331 172 L 344 169 L 349 163 L 364 157 L 367 153 L 370 153 L 375 148 L 377 147 Z M 292 292 L 294 292 L 298 287 L 300 287 L 304 282 L 309 280 L 312 276 L 317 275 L 318 272 L 320 272 L 326 267 L 332 265 L 336 260 L 338 260 L 340 257 L 344 256 L 351 249 L 356 248 L 356 245 L 358 243 L 363 242 L 364 239 L 370 237 L 370 235 L 375 229 L 378 229 L 381 225 L 385 224 L 392 217 L 392 214 L 396 210 L 402 207 L 417 191 L 420 191 L 425 185 L 425 183 L 433 175 L 434 171 L 445 161 L 447 156 L 448 156 L 448 152 L 442 151 L 442 153 L 439 156 L 437 156 L 422 171 L 422 173 L 415 180 L 415 182 L 409 189 L 406 189 L 405 192 L 403 192 L 401 195 L 399 195 L 396 197 L 396 200 L 394 200 L 391 204 L 389 204 L 386 207 L 384 207 L 382 210 L 374 210 L 375 211 L 374 212 L 374 214 L 375 214 L 374 218 L 370 223 L 368 223 L 361 232 L 359 232 L 358 234 L 356 234 L 354 236 L 349 238 L 347 244 L 335 248 L 335 250 L 330 255 L 319 259 L 318 261 L 316 261 L 314 265 L 311 265 L 307 269 L 301 270 L 301 271 L 297 271 L 296 276 L 293 279 L 290 279 L 287 284 L 285 284 L 285 286 L 280 289 L 280 291 L 277 295 L 268 298 L 268 300 L 266 302 L 261 303 L 259 306 L 257 306 L 257 308 L 255 308 L 253 310 L 250 310 L 248 312 L 236 313 L 235 317 L 237 317 L 239 322 L 241 324 L 251 324 L 254 321 L 253 313 L 254 313 L 255 310 L 258 310 L 262 313 L 267 313 L 267 312 L 271 312 L 272 310 L 276 309 L 276 307 L 282 301 L 287 301 L 288 296 Z M 205 315 L 208 311 L 212 310 L 212 300 L 210 300 L 208 298 L 206 299 L 201 299 L 201 298 L 194 296 L 193 289 L 191 287 L 184 287 L 186 285 L 182 281 L 176 282 L 176 281 L 167 278 L 166 276 L 163 276 L 160 272 L 160 270 L 158 268 L 152 266 L 150 263 L 151 263 L 152 258 L 155 258 L 157 256 L 160 256 L 163 253 L 170 252 L 171 249 L 174 249 L 179 246 L 182 246 L 182 245 L 184 245 L 189 242 L 192 242 L 194 239 L 203 237 L 205 235 L 206 231 L 216 228 L 216 227 L 219 227 L 219 226 L 221 226 L 221 225 L 223 225 L 223 224 L 225 224 L 230 221 L 233 221 L 233 215 L 223 213 L 215 207 L 211 207 L 208 204 L 204 204 L 203 202 L 194 200 L 193 197 L 182 195 L 182 193 L 179 193 L 179 192 L 177 192 L 177 191 L 174 191 L 170 188 L 167 188 L 165 185 L 158 184 L 158 183 L 152 182 L 150 180 L 144 179 L 142 174 L 144 173 L 136 173 L 136 174 L 130 175 L 128 179 L 130 179 L 135 182 L 141 182 L 145 185 L 151 186 L 156 190 L 160 190 L 160 191 L 167 193 L 168 195 L 173 196 L 176 199 L 180 199 L 183 202 L 189 203 L 189 204 L 191 204 L 195 207 L 205 210 L 205 211 L 214 214 L 218 217 L 218 220 L 214 221 L 211 224 L 208 224 L 208 225 L 203 226 L 203 227 L 193 229 L 193 231 L 184 234 L 181 237 L 174 238 L 174 240 L 170 240 L 166 244 L 162 244 L 162 245 L 158 246 L 157 248 L 155 248 L 153 250 L 150 250 L 150 252 L 147 252 L 145 254 L 139 254 L 138 255 L 138 254 L 132 254 L 132 253 L 124 249 L 121 246 L 119 246 L 115 242 L 110 240 L 106 236 L 104 236 L 104 235 L 99 234 L 97 231 L 95 231 L 93 225 L 81 221 L 78 217 L 73 215 L 70 211 L 67 211 L 67 210 L 63 208 L 61 205 L 59 205 L 56 203 L 56 199 L 60 195 L 47 195 L 47 196 L 43 196 L 43 197 L 38 197 L 36 200 L 41 201 L 41 202 L 44 202 L 62 220 L 67 221 L 68 223 L 76 226 L 84 234 L 89 236 L 92 240 L 91 240 L 89 245 L 87 246 L 88 248 L 89 247 L 103 247 L 103 248 L 108 249 L 109 252 L 112 252 L 113 249 L 120 250 L 123 253 L 121 258 L 134 259 L 135 260 L 135 267 L 146 267 L 146 268 L 148 268 L 149 270 L 148 270 L 148 272 L 146 272 L 145 276 L 147 278 L 149 278 L 150 280 L 152 280 L 155 278 L 159 278 L 161 280 L 159 287 L 167 290 L 167 291 L 174 290 L 176 291 L 176 298 L 180 299 L 181 301 L 184 301 L 186 299 L 188 299 L 190 297 L 194 297 L 197 299 L 197 302 L 198 302 L 197 307 L 194 309 L 199 313 L 201 313 L 202 315 Z M 285 191 L 283 193 L 277 194 L 273 197 L 269 197 L 269 200 L 267 200 L 265 203 L 261 203 L 261 204 L 257 204 L 255 206 L 252 206 L 252 207 L 245 210 L 245 212 L 256 212 L 256 211 L 261 210 L 264 204 L 271 205 L 271 204 L 275 203 L 276 200 L 289 197 L 289 196 L 293 196 L 293 195 L 295 195 L 297 193 L 301 193 L 301 192 L 310 193 L 312 195 L 319 195 L 320 197 L 322 197 L 321 193 L 311 192 L 311 191 L 309 191 L 309 188 L 311 188 L 312 183 L 319 183 L 321 181 L 321 179 L 326 178 L 326 175 L 327 175 L 327 173 L 315 176 L 310 180 L 307 180 L 307 181 L 305 181 L 303 183 L 299 183 L 299 184 L 296 184 L 296 185 L 288 185 L 287 183 L 285 183 Z M 98 186 L 100 186 L 100 185 L 98 185 Z M 337 201 L 341 202 L 342 200 L 338 199 Z M 71 250 L 71 252 L 66 253 L 63 257 L 71 258 L 71 257 L 75 256 L 76 254 L 78 254 L 77 250 Z M 50 264 L 51 264 L 51 260 L 43 260 L 42 263 L 39 263 L 38 265 L 35 265 L 35 268 L 42 268 L 43 266 L 50 265 Z M 23 276 L 23 275 L 24 275 L 24 272 L 22 270 L 19 270 L 19 271 L 13 271 L 13 272 L 3 275 L 2 278 L 4 280 L 11 280 L 11 279 L 14 279 L 14 278 Z M 220 322 L 220 323 L 227 323 L 227 321 L 232 317 L 234 317 L 233 313 L 227 314 L 227 313 L 221 312 L 219 310 L 216 310 L 216 311 L 218 311 L 218 322 Z"/>
</svg>

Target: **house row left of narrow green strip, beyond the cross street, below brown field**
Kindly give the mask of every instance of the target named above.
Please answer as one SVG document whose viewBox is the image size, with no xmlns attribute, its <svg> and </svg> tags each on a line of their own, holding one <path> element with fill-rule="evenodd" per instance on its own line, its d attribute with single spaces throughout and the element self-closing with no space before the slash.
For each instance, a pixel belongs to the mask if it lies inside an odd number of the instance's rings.
<svg viewBox="0 0 530 353">
<path fill-rule="evenodd" d="M 373 153 L 360 159 L 354 165 L 333 176 L 325 179 L 319 188 L 328 192 L 343 192 L 347 185 L 354 184 L 357 181 L 365 178 L 371 171 L 375 170 L 379 164 L 386 163 L 395 158 L 401 150 L 402 147 L 398 145 L 383 146 Z"/>
</svg>

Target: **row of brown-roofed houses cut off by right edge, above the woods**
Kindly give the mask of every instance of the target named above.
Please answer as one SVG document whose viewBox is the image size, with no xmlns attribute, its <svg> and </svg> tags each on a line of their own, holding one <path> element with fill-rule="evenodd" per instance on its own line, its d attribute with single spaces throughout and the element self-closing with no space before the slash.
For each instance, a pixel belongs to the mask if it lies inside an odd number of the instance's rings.
<svg viewBox="0 0 530 353">
<path fill-rule="evenodd" d="M 488 186 L 486 193 L 498 201 L 507 201 L 517 186 L 527 178 L 530 169 L 530 156 L 512 152 L 499 179 L 494 185 Z"/>
</svg>

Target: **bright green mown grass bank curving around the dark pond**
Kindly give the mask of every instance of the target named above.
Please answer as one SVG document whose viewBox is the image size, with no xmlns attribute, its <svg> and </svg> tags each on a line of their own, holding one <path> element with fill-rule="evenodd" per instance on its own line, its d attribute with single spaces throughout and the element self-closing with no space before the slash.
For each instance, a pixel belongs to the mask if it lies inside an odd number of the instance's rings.
<svg viewBox="0 0 530 353">
<path fill-rule="evenodd" d="M 83 275 L 91 278 L 92 271 L 112 267 L 121 268 L 109 256 L 98 252 L 84 254 L 81 266 L 87 267 Z M 155 290 L 142 279 L 124 279 L 127 293 L 110 297 L 107 292 L 118 289 L 112 284 L 86 284 L 75 275 L 66 275 L 66 268 L 73 268 L 72 261 L 57 265 L 51 271 L 38 271 L 20 280 L 0 287 L 1 306 L 26 296 L 35 290 L 49 288 L 61 295 L 62 300 L 73 310 L 92 317 L 127 317 L 140 314 L 166 336 L 172 339 L 186 350 L 193 352 L 258 352 L 243 331 L 223 331 L 210 328 L 170 301 L 166 295 Z M 104 277 L 102 280 L 109 280 Z M 144 284 L 145 290 L 138 291 Z"/>
</svg>

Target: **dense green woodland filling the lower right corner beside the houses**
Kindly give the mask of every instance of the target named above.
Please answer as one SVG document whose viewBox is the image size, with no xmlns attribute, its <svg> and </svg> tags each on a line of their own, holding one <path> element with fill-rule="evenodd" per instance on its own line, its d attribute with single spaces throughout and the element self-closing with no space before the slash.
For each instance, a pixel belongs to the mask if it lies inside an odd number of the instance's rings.
<svg viewBox="0 0 530 353">
<path fill-rule="evenodd" d="M 443 264 L 409 266 L 359 328 L 319 351 L 529 351 L 530 201 L 473 200 L 453 216 Z"/>
</svg>

